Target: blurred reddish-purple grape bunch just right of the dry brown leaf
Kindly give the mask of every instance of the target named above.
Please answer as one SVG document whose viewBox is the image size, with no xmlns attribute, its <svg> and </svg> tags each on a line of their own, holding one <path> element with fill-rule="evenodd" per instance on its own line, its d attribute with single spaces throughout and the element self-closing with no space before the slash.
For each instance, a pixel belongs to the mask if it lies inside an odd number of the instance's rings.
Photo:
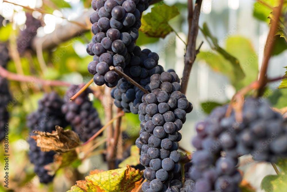
<svg viewBox="0 0 287 192">
<path fill-rule="evenodd" d="M 64 98 L 62 112 L 65 114 L 65 119 L 71 123 L 73 131 L 85 142 L 98 132 L 102 125 L 97 110 L 89 100 L 90 89 L 86 89 L 73 102 L 69 101 L 69 98 L 79 90 L 80 87 L 77 85 L 72 85 L 69 88 Z"/>
</svg>

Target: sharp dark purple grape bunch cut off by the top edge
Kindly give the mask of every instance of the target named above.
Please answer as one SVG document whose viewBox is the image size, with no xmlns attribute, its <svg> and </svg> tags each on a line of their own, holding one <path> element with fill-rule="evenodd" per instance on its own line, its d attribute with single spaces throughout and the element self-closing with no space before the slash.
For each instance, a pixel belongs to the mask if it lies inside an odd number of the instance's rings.
<svg viewBox="0 0 287 192">
<path fill-rule="evenodd" d="M 86 47 L 89 55 L 94 56 L 88 64 L 88 71 L 94 75 L 96 85 L 106 84 L 115 87 L 121 78 L 109 66 L 123 71 L 133 63 L 134 56 L 141 50 L 135 46 L 141 26 L 140 14 L 148 8 L 148 0 L 93 0 L 90 15 L 92 23 L 92 42 Z M 139 70 L 137 67 L 134 70 Z"/>
</svg>

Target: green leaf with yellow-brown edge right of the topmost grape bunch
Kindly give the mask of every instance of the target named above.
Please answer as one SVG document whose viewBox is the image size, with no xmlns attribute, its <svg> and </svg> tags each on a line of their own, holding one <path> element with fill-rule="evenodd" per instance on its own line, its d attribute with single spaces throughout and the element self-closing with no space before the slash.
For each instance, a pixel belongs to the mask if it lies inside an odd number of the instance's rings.
<svg viewBox="0 0 287 192">
<path fill-rule="evenodd" d="M 152 11 L 141 18 L 141 32 L 150 37 L 164 38 L 173 29 L 168 21 L 179 15 L 176 6 L 158 5 L 152 8 Z"/>
</svg>

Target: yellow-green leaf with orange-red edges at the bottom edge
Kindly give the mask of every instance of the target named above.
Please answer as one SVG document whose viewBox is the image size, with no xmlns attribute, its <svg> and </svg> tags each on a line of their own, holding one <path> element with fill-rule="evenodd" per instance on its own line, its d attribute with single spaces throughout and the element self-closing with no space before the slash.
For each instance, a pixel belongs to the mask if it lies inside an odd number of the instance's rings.
<svg viewBox="0 0 287 192">
<path fill-rule="evenodd" d="M 143 172 L 127 166 L 100 172 L 92 171 L 86 180 L 77 181 L 72 192 L 135 192 L 142 181 Z"/>
</svg>

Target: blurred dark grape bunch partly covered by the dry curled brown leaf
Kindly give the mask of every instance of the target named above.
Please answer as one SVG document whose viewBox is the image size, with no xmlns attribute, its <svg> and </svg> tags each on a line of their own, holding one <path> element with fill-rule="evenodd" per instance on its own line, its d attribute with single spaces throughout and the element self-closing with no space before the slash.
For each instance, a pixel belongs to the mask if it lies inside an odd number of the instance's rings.
<svg viewBox="0 0 287 192">
<path fill-rule="evenodd" d="M 63 101 L 55 93 L 45 94 L 38 102 L 38 110 L 27 117 L 27 126 L 31 130 L 52 133 L 55 126 L 66 127 L 68 122 L 65 121 L 64 115 L 61 112 Z M 31 134 L 33 135 L 33 134 Z M 35 165 L 34 172 L 38 175 L 41 183 L 49 183 L 53 180 L 53 176 L 47 173 L 44 166 L 53 162 L 55 152 L 43 152 L 40 147 L 36 146 L 33 138 L 28 140 L 30 144 L 29 158 L 31 163 Z"/>
</svg>

